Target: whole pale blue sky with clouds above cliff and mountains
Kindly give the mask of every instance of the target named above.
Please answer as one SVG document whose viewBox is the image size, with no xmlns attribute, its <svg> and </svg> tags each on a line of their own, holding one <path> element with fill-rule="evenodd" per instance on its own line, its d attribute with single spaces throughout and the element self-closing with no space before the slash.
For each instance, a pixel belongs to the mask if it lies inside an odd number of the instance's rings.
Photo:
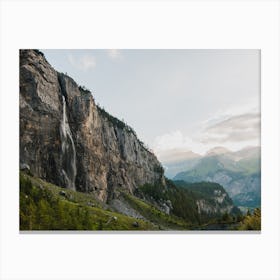
<svg viewBox="0 0 280 280">
<path fill-rule="evenodd" d="M 260 145 L 259 50 L 41 50 L 156 155 Z"/>
</svg>

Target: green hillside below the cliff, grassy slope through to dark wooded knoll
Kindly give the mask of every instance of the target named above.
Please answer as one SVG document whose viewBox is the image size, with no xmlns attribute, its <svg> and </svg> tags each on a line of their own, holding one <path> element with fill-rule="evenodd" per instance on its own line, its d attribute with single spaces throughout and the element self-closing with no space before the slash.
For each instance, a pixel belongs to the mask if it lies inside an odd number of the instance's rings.
<svg viewBox="0 0 280 280">
<path fill-rule="evenodd" d="M 168 180 L 167 184 L 165 192 L 161 186 L 144 185 L 136 195 L 122 192 L 120 203 L 106 204 L 92 194 L 21 172 L 20 229 L 191 230 L 217 223 L 225 213 L 240 214 L 217 184 L 198 184 L 197 190 L 176 187 Z"/>
</svg>

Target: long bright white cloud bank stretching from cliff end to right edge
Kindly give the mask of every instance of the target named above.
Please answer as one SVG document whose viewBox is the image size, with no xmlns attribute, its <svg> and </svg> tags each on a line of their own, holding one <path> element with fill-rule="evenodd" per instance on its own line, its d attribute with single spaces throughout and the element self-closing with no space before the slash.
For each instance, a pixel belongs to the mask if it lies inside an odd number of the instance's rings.
<svg viewBox="0 0 280 280">
<path fill-rule="evenodd" d="M 201 124 L 200 130 L 188 134 L 176 130 L 155 138 L 153 150 L 162 161 L 192 156 L 189 151 L 204 154 L 216 146 L 239 150 L 260 145 L 260 113 L 245 113 L 227 118 L 215 118 Z"/>
</svg>

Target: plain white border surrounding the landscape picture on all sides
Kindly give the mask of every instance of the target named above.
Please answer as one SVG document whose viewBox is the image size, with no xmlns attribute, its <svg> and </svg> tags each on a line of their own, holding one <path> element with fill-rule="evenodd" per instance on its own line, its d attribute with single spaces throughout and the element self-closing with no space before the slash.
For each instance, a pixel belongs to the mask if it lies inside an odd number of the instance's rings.
<svg viewBox="0 0 280 280">
<path fill-rule="evenodd" d="M 2 1 L 2 279 L 280 279 L 279 1 Z M 262 233 L 22 235 L 18 49 L 262 50 Z M 234 268 L 234 269 L 233 269 Z"/>
</svg>

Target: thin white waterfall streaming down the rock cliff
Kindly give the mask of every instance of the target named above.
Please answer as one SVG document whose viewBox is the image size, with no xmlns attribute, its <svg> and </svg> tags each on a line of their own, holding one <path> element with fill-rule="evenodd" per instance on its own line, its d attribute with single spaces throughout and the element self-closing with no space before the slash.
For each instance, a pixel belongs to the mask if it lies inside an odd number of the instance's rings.
<svg viewBox="0 0 280 280">
<path fill-rule="evenodd" d="M 65 97 L 62 96 L 63 114 L 61 121 L 61 143 L 62 143 L 62 173 L 66 182 L 66 187 L 76 190 L 75 179 L 77 174 L 76 168 L 76 149 L 72 138 L 71 130 L 66 114 Z"/>
</svg>

